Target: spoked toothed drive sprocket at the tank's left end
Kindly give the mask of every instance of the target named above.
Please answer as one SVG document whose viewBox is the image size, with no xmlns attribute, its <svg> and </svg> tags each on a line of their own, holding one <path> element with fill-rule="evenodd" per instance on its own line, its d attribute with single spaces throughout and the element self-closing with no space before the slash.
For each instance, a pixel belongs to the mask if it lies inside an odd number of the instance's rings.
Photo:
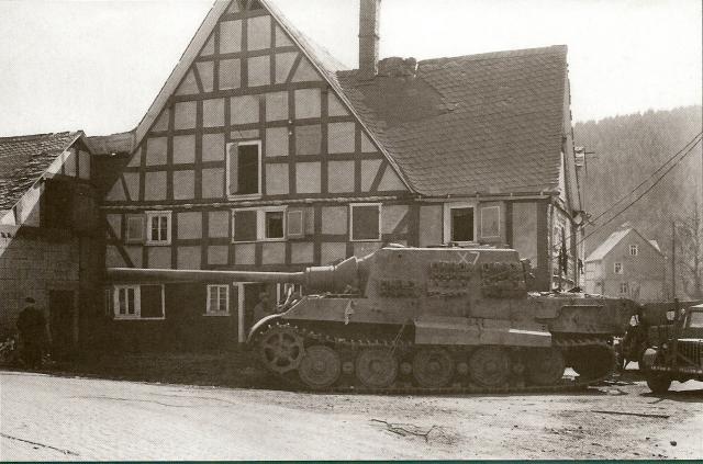
<svg viewBox="0 0 703 464">
<path fill-rule="evenodd" d="M 303 338 L 291 327 L 274 327 L 261 336 L 259 342 L 264 365 L 277 374 L 298 369 L 304 352 Z"/>
</svg>

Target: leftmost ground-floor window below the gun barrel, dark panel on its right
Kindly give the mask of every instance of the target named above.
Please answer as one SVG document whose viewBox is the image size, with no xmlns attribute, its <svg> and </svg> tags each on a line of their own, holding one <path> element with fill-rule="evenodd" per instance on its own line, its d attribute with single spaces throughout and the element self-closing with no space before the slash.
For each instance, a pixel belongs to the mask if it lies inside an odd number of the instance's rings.
<svg viewBox="0 0 703 464">
<path fill-rule="evenodd" d="M 115 319 L 164 319 L 164 285 L 118 285 L 112 304 Z"/>
</svg>

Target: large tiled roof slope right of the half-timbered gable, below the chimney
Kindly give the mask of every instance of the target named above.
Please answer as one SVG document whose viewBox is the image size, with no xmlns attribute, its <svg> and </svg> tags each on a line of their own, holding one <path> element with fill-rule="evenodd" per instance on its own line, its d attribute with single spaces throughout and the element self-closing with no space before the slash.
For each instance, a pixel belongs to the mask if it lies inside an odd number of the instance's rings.
<svg viewBox="0 0 703 464">
<path fill-rule="evenodd" d="M 416 77 L 358 79 L 345 94 L 425 195 L 558 188 L 567 47 L 420 61 Z"/>
</svg>

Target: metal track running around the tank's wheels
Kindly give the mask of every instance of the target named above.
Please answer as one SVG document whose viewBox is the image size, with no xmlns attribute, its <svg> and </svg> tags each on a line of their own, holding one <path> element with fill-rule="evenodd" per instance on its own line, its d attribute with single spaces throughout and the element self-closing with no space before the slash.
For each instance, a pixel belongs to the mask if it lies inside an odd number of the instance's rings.
<svg viewBox="0 0 703 464">
<path fill-rule="evenodd" d="M 384 348 L 391 350 L 413 350 L 415 344 L 413 342 L 404 341 L 404 340 L 350 340 L 341 337 L 333 337 L 325 333 L 315 332 L 313 330 L 298 327 L 291 324 L 281 324 L 281 321 L 277 321 L 268 326 L 268 328 L 259 333 L 254 340 L 254 349 L 258 350 L 258 341 L 261 336 L 264 336 L 269 330 L 274 330 L 277 328 L 288 328 L 295 330 L 302 338 L 305 340 L 305 346 L 312 344 L 324 344 L 326 347 L 334 347 L 336 351 L 346 350 L 347 352 L 356 353 L 357 351 L 366 348 Z M 562 350 L 573 349 L 573 348 L 583 348 L 583 347 L 602 347 L 606 348 L 613 354 L 613 363 L 612 366 L 607 370 L 603 375 L 595 378 L 581 378 L 580 376 L 569 380 L 561 378 L 558 384 L 555 385 L 525 385 L 524 382 L 513 383 L 511 382 L 507 385 L 502 385 L 498 387 L 484 387 L 476 384 L 469 383 L 468 385 L 448 385 L 445 387 L 422 387 L 417 385 L 412 385 L 410 382 L 398 382 L 395 381 L 389 387 L 382 388 L 372 388 L 366 385 L 360 384 L 360 382 L 356 381 L 353 385 L 333 385 L 327 388 L 312 388 L 309 385 L 304 384 L 300 377 L 298 376 L 297 371 L 288 372 L 286 374 L 279 374 L 269 370 L 271 374 L 277 375 L 286 385 L 288 385 L 291 389 L 300 393 L 323 393 L 323 394 L 355 394 L 355 395 L 456 395 L 456 394 L 529 394 L 529 393 L 574 393 L 582 392 L 590 386 L 598 385 L 603 381 L 610 378 L 612 373 L 615 371 L 615 351 L 613 347 L 604 341 L 601 338 L 567 338 L 567 339 L 553 339 L 553 347 L 557 347 Z M 476 347 L 444 347 L 449 350 L 455 351 L 468 351 L 468 348 Z M 354 354 L 356 355 L 356 354 Z M 342 374 L 341 377 L 353 377 L 352 375 Z M 400 376 L 400 374 L 399 374 Z M 456 374 L 455 374 L 456 376 Z"/>
</svg>

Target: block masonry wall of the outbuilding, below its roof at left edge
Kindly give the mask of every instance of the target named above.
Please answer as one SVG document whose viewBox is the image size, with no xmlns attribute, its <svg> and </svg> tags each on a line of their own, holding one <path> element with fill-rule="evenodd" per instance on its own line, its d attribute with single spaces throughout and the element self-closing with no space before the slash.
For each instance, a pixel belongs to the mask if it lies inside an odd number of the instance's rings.
<svg viewBox="0 0 703 464">
<path fill-rule="evenodd" d="M 48 317 L 49 290 L 78 290 L 78 239 L 56 230 L 0 226 L 0 340 L 16 331 L 24 298 Z"/>
</svg>

